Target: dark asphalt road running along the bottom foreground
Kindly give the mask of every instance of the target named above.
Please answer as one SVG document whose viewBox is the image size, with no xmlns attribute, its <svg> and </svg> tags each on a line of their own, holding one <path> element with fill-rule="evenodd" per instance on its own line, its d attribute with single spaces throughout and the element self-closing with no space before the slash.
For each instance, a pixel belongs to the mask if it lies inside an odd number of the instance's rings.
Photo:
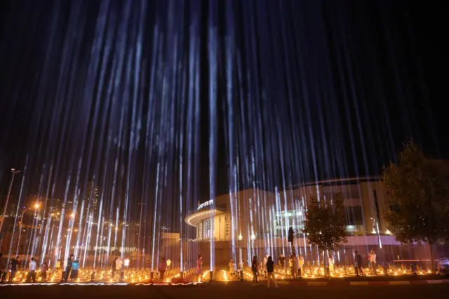
<svg viewBox="0 0 449 299">
<path fill-rule="evenodd" d="M 289 286 L 267 289 L 248 282 L 216 283 L 207 286 L 3 286 L 0 298 L 58 299 L 234 299 L 234 298 L 446 298 L 449 284 L 408 286 Z"/>
</svg>

